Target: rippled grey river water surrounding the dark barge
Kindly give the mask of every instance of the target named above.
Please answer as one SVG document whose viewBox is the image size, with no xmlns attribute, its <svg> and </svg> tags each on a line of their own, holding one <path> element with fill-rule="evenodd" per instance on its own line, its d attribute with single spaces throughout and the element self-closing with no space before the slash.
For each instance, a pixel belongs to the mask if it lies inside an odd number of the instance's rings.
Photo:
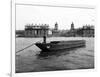
<svg viewBox="0 0 100 77">
<path fill-rule="evenodd" d="M 16 38 L 16 52 L 42 38 Z M 16 72 L 37 72 L 94 68 L 94 38 L 51 37 L 52 40 L 86 40 L 86 47 L 40 54 L 35 45 L 16 53 Z"/>
</svg>

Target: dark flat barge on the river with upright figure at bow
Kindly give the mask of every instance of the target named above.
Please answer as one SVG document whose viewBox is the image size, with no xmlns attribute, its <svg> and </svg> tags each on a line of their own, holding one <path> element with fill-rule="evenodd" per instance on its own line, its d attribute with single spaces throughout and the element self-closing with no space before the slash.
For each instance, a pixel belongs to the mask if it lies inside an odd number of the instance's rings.
<svg viewBox="0 0 100 77">
<path fill-rule="evenodd" d="M 70 40 L 70 41 L 51 41 L 46 43 L 46 36 L 43 37 L 43 43 L 36 43 L 42 52 L 61 51 L 66 49 L 73 49 L 78 47 L 84 47 L 86 44 L 85 40 Z"/>
</svg>

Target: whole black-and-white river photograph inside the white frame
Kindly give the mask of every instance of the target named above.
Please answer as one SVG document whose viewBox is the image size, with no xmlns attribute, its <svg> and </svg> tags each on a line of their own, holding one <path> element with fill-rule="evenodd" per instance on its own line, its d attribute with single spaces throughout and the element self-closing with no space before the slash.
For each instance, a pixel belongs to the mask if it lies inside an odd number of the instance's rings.
<svg viewBox="0 0 100 77">
<path fill-rule="evenodd" d="M 94 68 L 95 9 L 16 4 L 15 72 Z"/>
</svg>

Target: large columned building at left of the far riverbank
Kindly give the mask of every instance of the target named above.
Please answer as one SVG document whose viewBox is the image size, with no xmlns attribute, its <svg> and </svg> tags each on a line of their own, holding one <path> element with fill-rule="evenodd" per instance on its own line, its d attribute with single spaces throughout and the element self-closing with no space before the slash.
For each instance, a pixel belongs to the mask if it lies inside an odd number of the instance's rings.
<svg viewBox="0 0 100 77">
<path fill-rule="evenodd" d="M 42 37 L 48 36 L 49 25 L 26 25 L 25 26 L 25 37 Z"/>
</svg>

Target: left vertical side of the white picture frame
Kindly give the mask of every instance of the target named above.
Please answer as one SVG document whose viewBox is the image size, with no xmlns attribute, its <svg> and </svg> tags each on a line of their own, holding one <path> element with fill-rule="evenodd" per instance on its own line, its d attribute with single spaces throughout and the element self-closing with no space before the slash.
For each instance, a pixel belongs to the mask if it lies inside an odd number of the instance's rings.
<svg viewBox="0 0 100 77">
<path fill-rule="evenodd" d="M 11 1 L 11 76 L 15 76 L 15 0 Z"/>
</svg>

